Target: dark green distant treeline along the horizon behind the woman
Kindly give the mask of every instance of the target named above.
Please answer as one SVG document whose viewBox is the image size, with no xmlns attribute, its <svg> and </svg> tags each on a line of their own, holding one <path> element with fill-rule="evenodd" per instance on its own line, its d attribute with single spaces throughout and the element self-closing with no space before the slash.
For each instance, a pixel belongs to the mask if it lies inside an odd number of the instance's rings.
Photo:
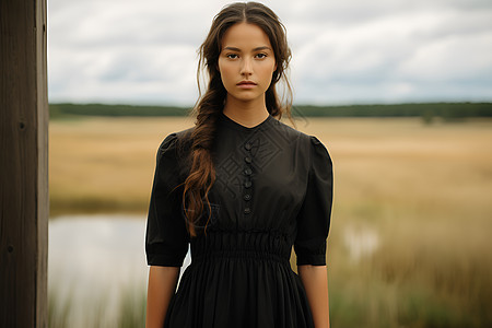
<svg viewBox="0 0 492 328">
<path fill-rule="evenodd" d="M 85 116 L 186 116 L 189 107 L 137 106 L 104 104 L 50 104 L 50 117 Z M 421 103 L 395 105 L 311 106 L 296 105 L 293 116 L 306 117 L 434 117 L 461 119 L 467 117 L 492 117 L 492 103 Z"/>
</svg>

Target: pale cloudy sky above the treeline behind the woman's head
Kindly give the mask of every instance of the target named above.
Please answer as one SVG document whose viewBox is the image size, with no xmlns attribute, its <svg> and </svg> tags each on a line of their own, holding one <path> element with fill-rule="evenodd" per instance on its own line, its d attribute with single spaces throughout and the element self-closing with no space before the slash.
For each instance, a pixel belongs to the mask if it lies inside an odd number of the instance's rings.
<svg viewBox="0 0 492 328">
<path fill-rule="evenodd" d="M 231 1 L 48 0 L 49 101 L 192 105 Z M 492 101 L 490 0 L 272 0 L 296 104 Z"/>
</svg>

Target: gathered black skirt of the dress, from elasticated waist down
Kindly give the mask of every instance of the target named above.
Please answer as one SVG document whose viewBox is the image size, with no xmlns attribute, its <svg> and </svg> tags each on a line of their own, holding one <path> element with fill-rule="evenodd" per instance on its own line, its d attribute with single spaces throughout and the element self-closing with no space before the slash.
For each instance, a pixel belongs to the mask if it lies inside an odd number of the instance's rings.
<svg viewBox="0 0 492 328">
<path fill-rule="evenodd" d="M 282 235 L 267 232 L 196 238 L 164 327 L 314 327 L 291 249 Z"/>
</svg>

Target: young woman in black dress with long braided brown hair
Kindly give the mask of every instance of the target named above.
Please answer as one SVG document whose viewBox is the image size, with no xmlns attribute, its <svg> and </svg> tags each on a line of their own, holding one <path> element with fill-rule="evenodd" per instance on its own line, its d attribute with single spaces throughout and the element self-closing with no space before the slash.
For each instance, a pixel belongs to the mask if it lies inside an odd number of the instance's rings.
<svg viewBox="0 0 492 328">
<path fill-rule="evenodd" d="M 214 17 L 200 47 L 210 80 L 196 126 L 157 152 L 147 327 L 329 326 L 331 160 L 318 139 L 277 119 L 290 116 L 276 92 L 290 55 L 283 25 L 260 3 Z"/>
</svg>

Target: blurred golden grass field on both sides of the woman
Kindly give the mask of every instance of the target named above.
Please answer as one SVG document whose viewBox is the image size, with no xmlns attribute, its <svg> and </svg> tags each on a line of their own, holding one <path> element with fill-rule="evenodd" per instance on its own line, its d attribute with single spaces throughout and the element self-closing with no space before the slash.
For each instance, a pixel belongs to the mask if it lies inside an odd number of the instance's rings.
<svg viewBox="0 0 492 328">
<path fill-rule="evenodd" d="M 189 118 L 50 124 L 51 213 L 144 212 L 156 149 Z M 333 327 L 492 325 L 492 120 L 307 118 L 335 167 Z"/>
</svg>

